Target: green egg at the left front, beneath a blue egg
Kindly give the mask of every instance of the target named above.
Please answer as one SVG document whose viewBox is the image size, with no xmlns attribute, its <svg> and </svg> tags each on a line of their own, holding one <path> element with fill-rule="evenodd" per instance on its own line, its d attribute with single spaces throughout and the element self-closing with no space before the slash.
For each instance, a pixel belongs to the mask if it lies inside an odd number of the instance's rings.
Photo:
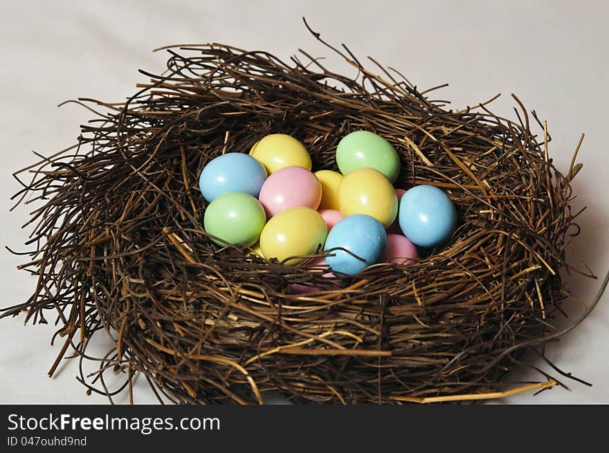
<svg viewBox="0 0 609 453">
<path fill-rule="evenodd" d="M 323 219 L 322 219 L 323 220 Z M 226 192 L 212 201 L 203 215 L 206 232 L 219 246 L 244 243 L 252 246 L 260 237 L 266 215 L 256 198 L 245 192 Z"/>
</svg>

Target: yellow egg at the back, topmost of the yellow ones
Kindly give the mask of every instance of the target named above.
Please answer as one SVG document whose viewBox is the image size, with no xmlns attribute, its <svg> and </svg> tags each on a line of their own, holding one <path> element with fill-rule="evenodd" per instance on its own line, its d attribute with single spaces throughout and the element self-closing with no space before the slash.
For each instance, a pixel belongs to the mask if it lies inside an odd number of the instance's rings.
<svg viewBox="0 0 609 453">
<path fill-rule="evenodd" d="M 311 169 L 311 156 L 305 145 L 284 133 L 271 133 L 258 140 L 250 149 L 250 156 L 264 165 L 269 175 L 283 167 Z"/>
</svg>

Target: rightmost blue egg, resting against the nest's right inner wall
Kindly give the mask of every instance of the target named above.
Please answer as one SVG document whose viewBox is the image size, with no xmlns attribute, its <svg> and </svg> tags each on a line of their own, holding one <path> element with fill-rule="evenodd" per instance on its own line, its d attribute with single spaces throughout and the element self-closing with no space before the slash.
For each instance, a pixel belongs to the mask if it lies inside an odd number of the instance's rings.
<svg viewBox="0 0 609 453">
<path fill-rule="evenodd" d="M 433 185 L 408 189 L 400 200 L 398 219 L 404 236 L 421 247 L 441 246 L 457 228 L 455 205 Z"/>
</svg>

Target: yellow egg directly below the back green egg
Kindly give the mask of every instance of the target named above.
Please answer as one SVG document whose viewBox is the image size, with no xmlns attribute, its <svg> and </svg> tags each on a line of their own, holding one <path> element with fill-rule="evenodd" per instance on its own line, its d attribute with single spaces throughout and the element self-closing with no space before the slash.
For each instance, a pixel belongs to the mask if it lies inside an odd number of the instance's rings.
<svg viewBox="0 0 609 453">
<path fill-rule="evenodd" d="M 338 187 L 340 212 L 346 217 L 367 214 L 388 227 L 397 216 L 397 196 L 390 181 L 378 170 L 358 168 L 343 177 Z"/>
</svg>

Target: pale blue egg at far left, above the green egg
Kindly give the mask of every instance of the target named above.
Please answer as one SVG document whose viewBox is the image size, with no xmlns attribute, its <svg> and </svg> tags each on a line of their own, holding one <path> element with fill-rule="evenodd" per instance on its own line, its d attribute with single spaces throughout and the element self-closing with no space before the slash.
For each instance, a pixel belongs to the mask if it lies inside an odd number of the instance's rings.
<svg viewBox="0 0 609 453">
<path fill-rule="evenodd" d="M 210 203 L 226 192 L 245 192 L 257 198 L 266 169 L 249 154 L 226 153 L 213 158 L 199 176 L 201 194 Z"/>
</svg>

